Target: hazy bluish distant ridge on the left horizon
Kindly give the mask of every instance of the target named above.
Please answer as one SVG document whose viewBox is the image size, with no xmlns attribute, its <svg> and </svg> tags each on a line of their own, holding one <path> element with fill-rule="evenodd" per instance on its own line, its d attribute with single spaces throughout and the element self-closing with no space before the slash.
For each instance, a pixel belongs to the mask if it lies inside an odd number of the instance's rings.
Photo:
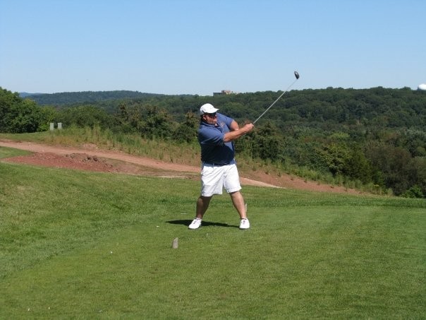
<svg viewBox="0 0 426 320">
<path fill-rule="evenodd" d="M 105 100 L 123 100 L 161 97 L 157 93 L 140 93 L 138 91 L 115 90 L 115 91 L 81 91 L 73 93 L 20 93 L 25 97 L 37 102 L 38 105 L 75 105 Z"/>
</svg>

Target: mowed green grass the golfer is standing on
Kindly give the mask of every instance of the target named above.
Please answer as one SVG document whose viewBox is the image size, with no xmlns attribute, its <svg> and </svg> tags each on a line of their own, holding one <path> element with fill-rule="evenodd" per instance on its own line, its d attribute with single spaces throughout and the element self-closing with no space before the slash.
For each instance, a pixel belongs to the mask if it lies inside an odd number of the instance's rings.
<svg viewBox="0 0 426 320">
<path fill-rule="evenodd" d="M 425 200 L 199 186 L 0 162 L 0 319 L 425 319 Z"/>
</svg>

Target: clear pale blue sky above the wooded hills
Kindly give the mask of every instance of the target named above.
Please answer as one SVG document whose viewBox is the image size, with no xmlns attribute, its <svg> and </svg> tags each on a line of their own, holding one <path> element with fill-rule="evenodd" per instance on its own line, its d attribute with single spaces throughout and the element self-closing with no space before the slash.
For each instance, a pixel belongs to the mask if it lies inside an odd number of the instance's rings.
<svg viewBox="0 0 426 320">
<path fill-rule="evenodd" d="M 212 95 L 426 83 L 424 0 L 0 0 L 0 87 Z"/>
</svg>

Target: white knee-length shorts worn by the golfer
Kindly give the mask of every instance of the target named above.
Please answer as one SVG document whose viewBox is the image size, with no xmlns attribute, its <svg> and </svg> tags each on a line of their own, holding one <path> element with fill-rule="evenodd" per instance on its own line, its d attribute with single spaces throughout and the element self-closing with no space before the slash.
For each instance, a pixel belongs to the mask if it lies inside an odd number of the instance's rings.
<svg viewBox="0 0 426 320">
<path fill-rule="evenodd" d="M 202 163 L 201 195 L 222 194 L 224 188 L 229 194 L 241 190 L 236 164 L 217 166 Z"/>
</svg>

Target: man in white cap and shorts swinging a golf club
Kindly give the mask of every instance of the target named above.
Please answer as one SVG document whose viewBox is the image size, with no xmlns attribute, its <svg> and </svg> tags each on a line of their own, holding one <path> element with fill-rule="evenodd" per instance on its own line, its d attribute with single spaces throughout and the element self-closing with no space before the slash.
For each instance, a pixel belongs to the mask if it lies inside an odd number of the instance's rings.
<svg viewBox="0 0 426 320">
<path fill-rule="evenodd" d="M 254 124 L 245 124 L 242 128 L 238 123 L 209 103 L 200 107 L 200 128 L 198 142 L 201 147 L 201 195 L 197 200 L 195 219 L 189 229 L 201 226 L 202 217 L 214 194 L 222 194 L 222 190 L 231 195 L 233 206 L 240 215 L 240 229 L 248 229 L 250 223 L 245 212 L 245 203 L 241 194 L 240 177 L 236 167 L 235 147 L 233 141 L 247 134 Z"/>
</svg>

